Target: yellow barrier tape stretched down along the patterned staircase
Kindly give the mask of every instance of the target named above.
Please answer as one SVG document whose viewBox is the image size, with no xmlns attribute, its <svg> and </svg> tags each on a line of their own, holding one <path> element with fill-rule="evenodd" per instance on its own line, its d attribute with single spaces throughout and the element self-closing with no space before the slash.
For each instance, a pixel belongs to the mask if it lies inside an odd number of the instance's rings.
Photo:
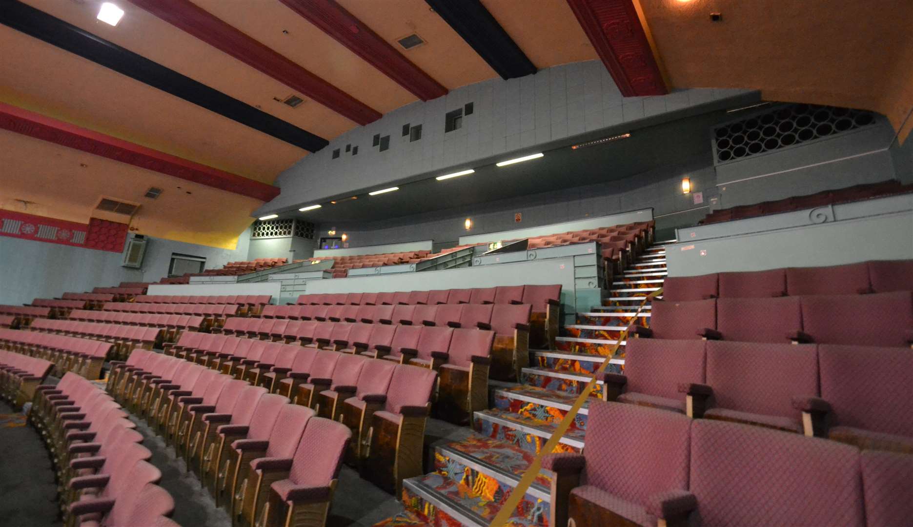
<svg viewBox="0 0 913 527">
<path fill-rule="evenodd" d="M 618 335 L 618 340 L 615 341 L 615 345 L 612 348 L 612 352 L 609 353 L 608 355 L 606 355 L 605 362 L 603 362 L 603 364 L 601 366 L 599 366 L 599 369 L 597 369 L 596 372 L 593 374 L 593 378 L 590 379 L 590 382 L 586 384 L 586 386 L 583 388 L 581 395 L 579 397 L 577 397 L 577 400 L 574 401 L 574 404 L 573 404 L 573 406 L 571 406 L 571 409 L 568 410 L 567 415 L 564 416 L 564 419 L 561 421 L 561 424 L 558 425 L 557 428 L 555 428 L 554 432 L 552 432 L 551 437 L 549 437 L 549 440 L 545 442 L 545 446 L 543 446 L 540 449 L 539 454 L 536 454 L 536 458 L 533 459 L 532 464 L 530 464 L 530 468 L 526 469 L 526 472 L 523 473 L 523 477 L 520 478 L 519 483 L 517 484 L 517 487 L 510 492 L 508 500 L 504 502 L 504 505 L 501 507 L 501 510 L 498 511 L 498 515 L 496 515 L 495 519 L 492 520 L 491 523 L 488 524 L 489 527 L 500 527 L 501 525 L 507 524 L 508 520 L 510 519 L 510 516 L 513 515 L 514 511 L 517 510 L 519 501 L 523 499 L 523 496 L 526 494 L 526 491 L 530 489 L 530 485 L 532 485 L 533 480 L 535 480 L 536 476 L 539 475 L 539 471 L 540 471 L 540 469 L 542 469 L 542 458 L 546 454 L 551 454 L 551 451 L 554 450 L 556 446 L 558 446 L 558 442 L 561 439 L 561 436 L 563 436 L 564 432 L 566 432 L 567 429 L 569 427 L 571 427 L 571 424 L 573 423 L 574 418 L 577 416 L 577 412 L 580 411 L 580 409 L 583 406 L 583 403 L 586 402 L 587 398 L 590 396 L 590 393 L 593 392 L 593 388 L 596 386 L 596 375 L 595 374 L 603 373 L 603 371 L 605 371 L 605 368 L 608 367 L 609 357 L 614 356 L 614 354 L 618 352 L 618 348 L 621 346 L 622 341 L 627 340 L 628 331 L 631 329 L 631 326 L 635 325 L 635 321 L 637 321 L 637 317 L 640 315 L 640 312 L 644 311 L 644 306 L 646 305 L 646 302 L 648 300 L 653 300 L 654 298 L 656 298 L 656 296 L 662 294 L 662 292 L 663 292 L 663 288 L 659 288 L 658 290 L 655 290 L 652 293 L 646 295 L 646 297 L 644 298 L 644 301 L 640 303 L 640 307 L 637 308 L 637 311 L 635 312 L 635 316 L 631 318 L 631 321 L 628 323 L 627 327 L 624 328 L 624 331 L 622 331 L 621 334 Z M 561 527 L 561 526 L 556 525 L 554 527 Z"/>
</svg>

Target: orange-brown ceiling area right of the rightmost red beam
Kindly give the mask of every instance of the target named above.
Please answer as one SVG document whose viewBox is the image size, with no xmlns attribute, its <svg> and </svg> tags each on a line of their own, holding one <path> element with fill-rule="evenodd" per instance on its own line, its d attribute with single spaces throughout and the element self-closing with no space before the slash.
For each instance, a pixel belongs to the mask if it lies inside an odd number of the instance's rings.
<svg viewBox="0 0 913 527">
<path fill-rule="evenodd" d="M 909 98 L 913 2 L 640 4 L 676 88 L 756 89 L 767 100 L 881 111 L 895 126 L 909 111 L 903 94 Z M 711 12 L 722 20 L 710 22 Z M 895 83 L 908 88 L 898 86 L 885 100 Z"/>
</svg>

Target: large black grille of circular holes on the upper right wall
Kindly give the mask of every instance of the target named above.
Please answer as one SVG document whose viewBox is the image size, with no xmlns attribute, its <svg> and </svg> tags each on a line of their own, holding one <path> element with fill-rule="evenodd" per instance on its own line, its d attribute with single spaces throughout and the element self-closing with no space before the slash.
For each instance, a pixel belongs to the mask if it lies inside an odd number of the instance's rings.
<svg viewBox="0 0 913 527">
<path fill-rule="evenodd" d="M 717 164 L 731 163 L 875 123 L 871 111 L 815 104 L 783 105 L 714 129 L 714 159 Z"/>
</svg>

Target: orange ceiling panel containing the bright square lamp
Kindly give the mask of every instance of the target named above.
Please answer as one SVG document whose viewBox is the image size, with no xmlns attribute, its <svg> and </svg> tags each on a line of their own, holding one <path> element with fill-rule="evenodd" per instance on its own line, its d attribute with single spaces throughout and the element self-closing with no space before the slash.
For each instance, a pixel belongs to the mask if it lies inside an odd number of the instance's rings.
<svg viewBox="0 0 913 527">
<path fill-rule="evenodd" d="M 305 102 L 295 109 L 273 100 L 274 97 L 285 99 L 295 91 L 136 5 L 128 2 L 119 4 L 125 12 L 124 16 L 117 26 L 110 26 L 96 20 L 101 4 L 96 0 L 82 3 L 25 1 L 51 16 L 324 139 L 332 139 L 355 126 L 354 122 L 308 98 L 304 98 Z"/>
</svg>

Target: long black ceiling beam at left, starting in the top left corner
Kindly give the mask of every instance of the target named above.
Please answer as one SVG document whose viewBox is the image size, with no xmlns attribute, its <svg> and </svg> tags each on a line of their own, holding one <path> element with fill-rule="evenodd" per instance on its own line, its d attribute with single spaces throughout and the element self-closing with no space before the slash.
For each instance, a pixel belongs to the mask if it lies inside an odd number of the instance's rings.
<svg viewBox="0 0 913 527">
<path fill-rule="evenodd" d="M 30 5 L 0 0 L 0 23 L 309 152 L 317 152 L 328 144 L 318 135 Z"/>
</svg>

